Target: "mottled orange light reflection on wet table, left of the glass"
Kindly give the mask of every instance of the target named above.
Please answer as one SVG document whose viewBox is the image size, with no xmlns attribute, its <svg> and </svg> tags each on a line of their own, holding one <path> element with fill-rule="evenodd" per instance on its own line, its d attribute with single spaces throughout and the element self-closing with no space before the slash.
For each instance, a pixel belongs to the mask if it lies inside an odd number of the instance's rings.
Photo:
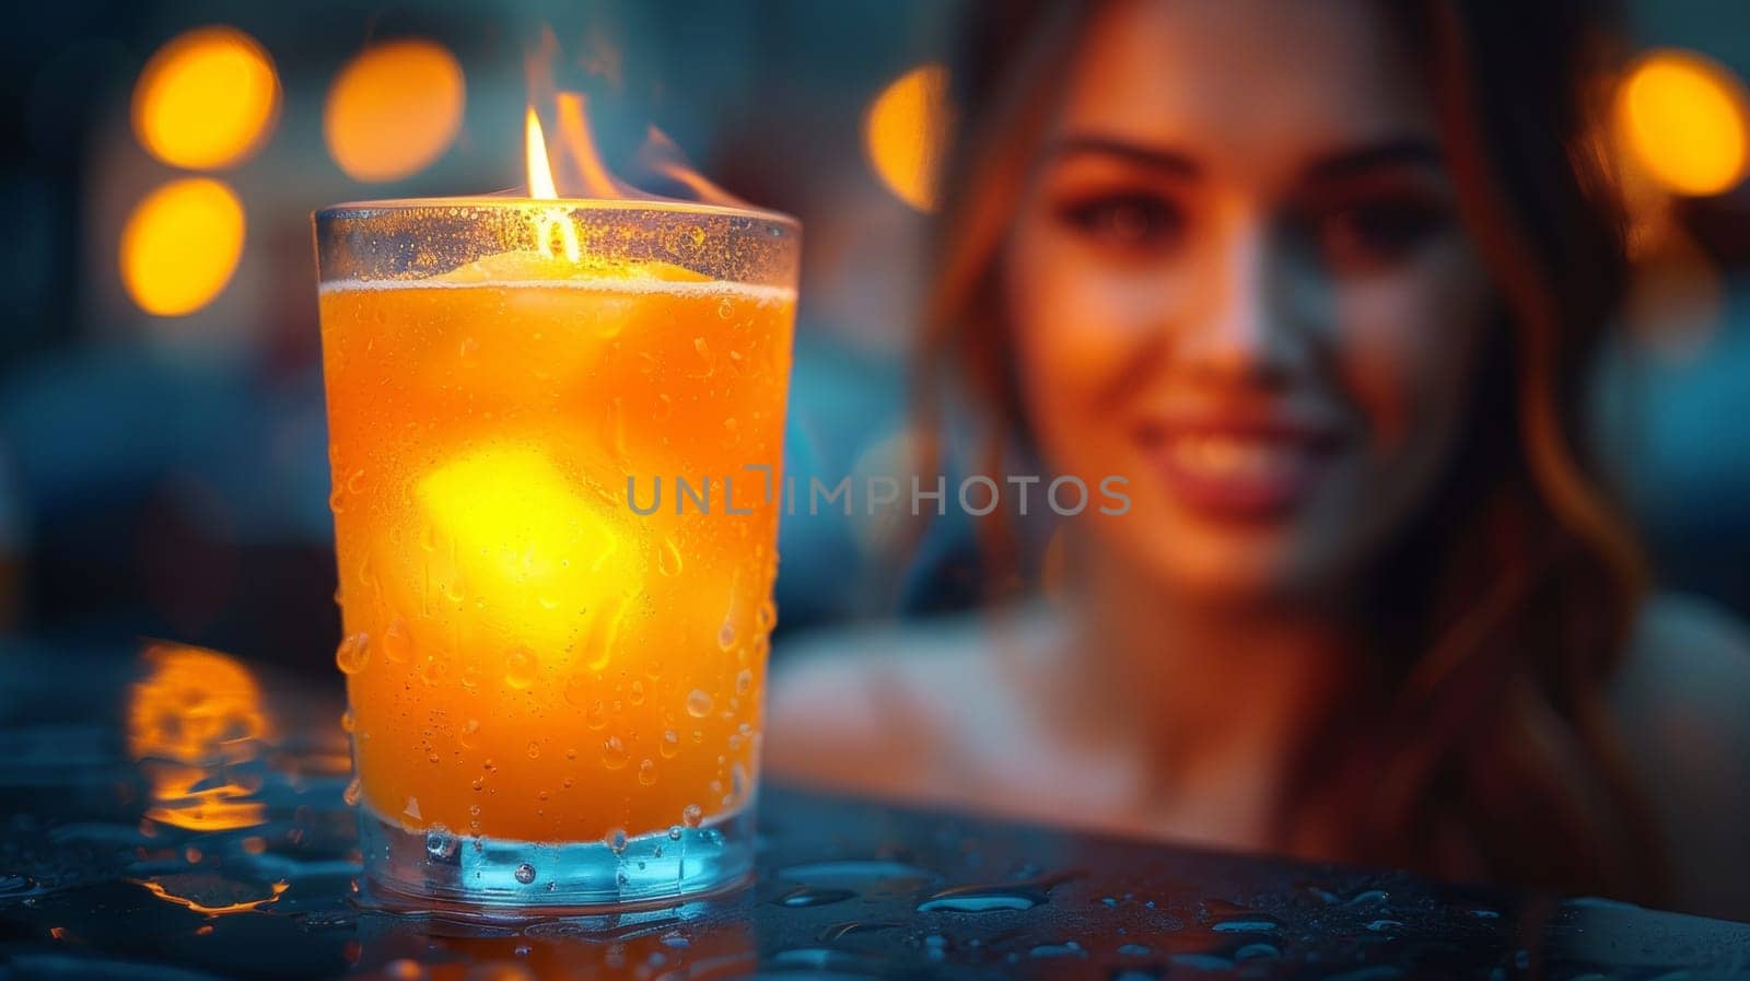
<svg viewBox="0 0 1750 981">
<path fill-rule="evenodd" d="M 147 649 L 147 675 L 128 699 L 128 752 L 150 780 L 145 817 L 189 831 L 266 820 L 266 806 L 226 769 L 256 757 L 271 734 L 248 670 L 200 647 Z"/>
</svg>

